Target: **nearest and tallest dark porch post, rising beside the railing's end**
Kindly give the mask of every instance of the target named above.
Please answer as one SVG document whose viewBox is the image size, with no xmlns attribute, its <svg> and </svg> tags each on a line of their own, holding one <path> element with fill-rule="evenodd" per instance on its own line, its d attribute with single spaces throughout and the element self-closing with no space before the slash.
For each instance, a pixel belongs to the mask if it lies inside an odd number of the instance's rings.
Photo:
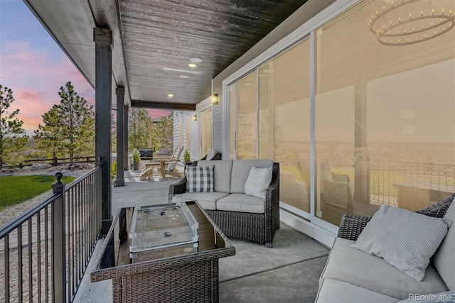
<svg viewBox="0 0 455 303">
<path fill-rule="evenodd" d="M 102 233 L 112 224 L 111 189 L 111 105 L 112 33 L 109 28 L 93 28 L 95 41 L 95 155 L 102 157 Z"/>
</svg>

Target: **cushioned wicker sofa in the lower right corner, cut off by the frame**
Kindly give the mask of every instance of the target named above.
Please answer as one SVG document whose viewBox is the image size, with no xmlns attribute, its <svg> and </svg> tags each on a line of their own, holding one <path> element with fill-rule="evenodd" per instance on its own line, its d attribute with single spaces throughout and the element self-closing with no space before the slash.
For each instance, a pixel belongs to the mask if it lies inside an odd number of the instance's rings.
<svg viewBox="0 0 455 303">
<path fill-rule="evenodd" d="M 454 198 L 455 194 L 416 212 L 455 222 Z M 316 302 L 408 302 L 414 294 L 441 292 L 450 292 L 449 296 L 455 300 L 454 225 L 430 259 L 424 279 L 417 281 L 383 258 L 350 247 L 369 221 L 370 217 L 349 214 L 341 219 L 338 237 L 319 280 Z"/>
</svg>

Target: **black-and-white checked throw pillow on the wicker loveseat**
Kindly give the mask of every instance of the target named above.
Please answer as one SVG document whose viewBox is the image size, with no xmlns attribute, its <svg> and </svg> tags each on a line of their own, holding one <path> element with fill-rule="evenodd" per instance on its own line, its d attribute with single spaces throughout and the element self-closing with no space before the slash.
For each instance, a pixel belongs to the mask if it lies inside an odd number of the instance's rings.
<svg viewBox="0 0 455 303">
<path fill-rule="evenodd" d="M 186 172 L 187 192 L 213 192 L 213 167 L 188 166 Z"/>
</svg>

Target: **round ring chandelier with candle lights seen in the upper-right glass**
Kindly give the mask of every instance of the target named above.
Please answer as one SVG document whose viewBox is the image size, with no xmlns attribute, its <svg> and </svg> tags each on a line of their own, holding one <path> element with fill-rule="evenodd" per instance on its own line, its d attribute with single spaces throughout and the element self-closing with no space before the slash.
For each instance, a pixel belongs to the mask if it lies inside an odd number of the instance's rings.
<svg viewBox="0 0 455 303">
<path fill-rule="evenodd" d="M 409 45 L 436 38 L 455 23 L 453 8 L 441 0 L 387 1 L 371 15 L 370 31 L 383 45 Z"/>
</svg>

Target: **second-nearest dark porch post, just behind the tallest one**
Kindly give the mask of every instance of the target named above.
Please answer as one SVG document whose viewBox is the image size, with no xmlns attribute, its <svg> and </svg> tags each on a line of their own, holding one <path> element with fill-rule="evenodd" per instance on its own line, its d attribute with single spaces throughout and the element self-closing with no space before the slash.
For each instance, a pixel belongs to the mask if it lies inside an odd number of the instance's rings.
<svg viewBox="0 0 455 303">
<path fill-rule="evenodd" d="M 124 186 L 124 94 L 123 87 L 115 89 L 117 95 L 117 180 L 115 186 Z"/>
</svg>

